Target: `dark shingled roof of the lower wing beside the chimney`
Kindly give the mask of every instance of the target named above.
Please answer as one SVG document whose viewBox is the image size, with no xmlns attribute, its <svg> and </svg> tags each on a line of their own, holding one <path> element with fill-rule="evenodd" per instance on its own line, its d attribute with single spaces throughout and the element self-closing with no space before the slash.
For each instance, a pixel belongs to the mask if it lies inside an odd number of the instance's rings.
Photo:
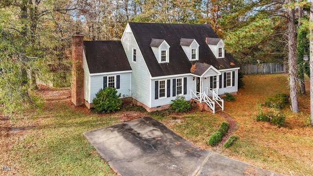
<svg viewBox="0 0 313 176">
<path fill-rule="evenodd" d="M 132 70 L 121 41 L 84 41 L 90 73 Z"/>
</svg>

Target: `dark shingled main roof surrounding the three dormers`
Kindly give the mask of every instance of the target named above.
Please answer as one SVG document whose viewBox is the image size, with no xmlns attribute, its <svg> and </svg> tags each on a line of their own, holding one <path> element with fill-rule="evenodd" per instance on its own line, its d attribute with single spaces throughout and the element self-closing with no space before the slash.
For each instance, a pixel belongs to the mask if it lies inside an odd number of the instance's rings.
<svg viewBox="0 0 313 176">
<path fill-rule="evenodd" d="M 205 38 L 218 38 L 209 24 L 168 24 L 129 22 L 134 37 L 143 55 L 152 77 L 190 73 L 195 62 L 207 63 L 217 69 L 239 67 L 231 54 L 225 53 L 225 58 L 216 59 Z M 199 61 L 189 61 L 180 39 L 195 39 L 199 46 Z M 163 39 L 171 46 L 169 63 L 159 64 L 150 47 L 151 39 Z"/>
</svg>

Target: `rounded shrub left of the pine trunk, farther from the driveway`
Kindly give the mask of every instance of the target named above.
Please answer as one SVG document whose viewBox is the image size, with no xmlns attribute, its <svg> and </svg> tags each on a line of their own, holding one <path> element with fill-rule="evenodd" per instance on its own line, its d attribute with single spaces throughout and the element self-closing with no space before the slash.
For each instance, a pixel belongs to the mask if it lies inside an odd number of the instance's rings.
<svg viewBox="0 0 313 176">
<path fill-rule="evenodd" d="M 285 104 L 289 102 L 289 95 L 285 93 L 278 93 L 268 97 L 265 101 L 265 106 L 269 108 L 283 109 Z"/>
</svg>

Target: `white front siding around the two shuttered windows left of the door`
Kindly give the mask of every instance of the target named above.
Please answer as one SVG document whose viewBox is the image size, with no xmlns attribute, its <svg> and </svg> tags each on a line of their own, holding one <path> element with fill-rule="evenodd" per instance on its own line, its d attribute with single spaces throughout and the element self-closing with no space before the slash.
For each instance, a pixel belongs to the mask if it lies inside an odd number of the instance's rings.
<svg viewBox="0 0 313 176">
<path fill-rule="evenodd" d="M 176 96 L 173 97 L 173 79 L 181 78 L 183 81 L 184 77 L 187 78 L 187 94 L 182 95 L 182 96 L 184 96 L 186 100 L 190 100 L 191 98 L 190 90 L 196 89 L 196 79 L 192 81 L 194 76 L 181 76 L 181 77 L 171 77 L 171 78 L 164 78 L 164 79 L 155 79 L 155 80 L 151 80 L 151 108 L 172 104 L 171 100 L 174 100 L 176 98 Z M 165 82 L 167 82 L 168 79 L 171 80 L 171 96 L 168 98 L 165 97 L 165 98 L 155 99 L 155 81 L 165 80 Z M 183 83 L 182 83 L 182 88 L 183 88 Z M 167 92 L 167 90 L 165 90 L 165 92 Z M 182 93 L 183 93 L 183 90 L 182 90 Z"/>
</svg>

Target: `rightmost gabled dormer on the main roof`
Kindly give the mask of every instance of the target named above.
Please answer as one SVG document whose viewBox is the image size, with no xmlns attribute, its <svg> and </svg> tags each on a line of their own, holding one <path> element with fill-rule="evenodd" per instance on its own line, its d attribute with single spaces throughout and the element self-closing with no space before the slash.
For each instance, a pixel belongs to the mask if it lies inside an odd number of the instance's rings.
<svg viewBox="0 0 313 176">
<path fill-rule="evenodd" d="M 205 43 L 210 47 L 211 51 L 216 58 L 224 58 L 225 56 L 225 44 L 220 38 L 205 38 Z"/>
</svg>

